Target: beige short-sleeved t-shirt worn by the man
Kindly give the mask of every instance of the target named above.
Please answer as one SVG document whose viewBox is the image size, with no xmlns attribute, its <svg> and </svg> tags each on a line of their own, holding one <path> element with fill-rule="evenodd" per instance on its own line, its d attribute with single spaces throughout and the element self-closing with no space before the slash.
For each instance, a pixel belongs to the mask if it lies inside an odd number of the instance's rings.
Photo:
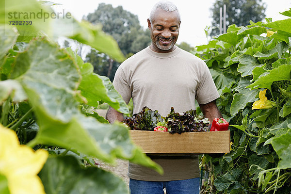
<svg viewBox="0 0 291 194">
<path fill-rule="evenodd" d="M 126 103 L 132 97 L 133 113 L 147 106 L 166 116 L 171 107 L 182 113 L 195 109 L 195 99 L 206 104 L 219 97 L 207 65 L 178 47 L 169 53 L 141 50 L 118 67 L 113 85 Z M 198 156 L 150 157 L 163 167 L 164 175 L 129 163 L 129 178 L 169 181 L 200 176 Z"/>
</svg>

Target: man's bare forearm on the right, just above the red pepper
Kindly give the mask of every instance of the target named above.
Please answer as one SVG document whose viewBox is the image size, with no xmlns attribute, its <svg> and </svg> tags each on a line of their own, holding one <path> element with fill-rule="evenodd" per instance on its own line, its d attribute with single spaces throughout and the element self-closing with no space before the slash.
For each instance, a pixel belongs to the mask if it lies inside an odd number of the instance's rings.
<svg viewBox="0 0 291 194">
<path fill-rule="evenodd" d="M 218 110 L 216 106 L 215 100 L 207 103 L 207 104 L 199 104 L 200 109 L 204 115 L 204 117 L 208 118 L 210 121 L 210 124 L 212 124 L 212 121 L 216 117 L 222 117 L 222 114 Z"/>
</svg>

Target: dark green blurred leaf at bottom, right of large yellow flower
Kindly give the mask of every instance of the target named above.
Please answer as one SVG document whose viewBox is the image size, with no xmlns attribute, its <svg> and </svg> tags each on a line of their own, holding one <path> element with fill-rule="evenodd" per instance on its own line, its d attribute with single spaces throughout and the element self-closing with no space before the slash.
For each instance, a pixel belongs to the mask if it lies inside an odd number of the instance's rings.
<svg viewBox="0 0 291 194">
<path fill-rule="evenodd" d="M 39 177 L 46 194 L 129 194 L 121 178 L 100 168 L 82 168 L 72 156 L 49 158 Z"/>
</svg>

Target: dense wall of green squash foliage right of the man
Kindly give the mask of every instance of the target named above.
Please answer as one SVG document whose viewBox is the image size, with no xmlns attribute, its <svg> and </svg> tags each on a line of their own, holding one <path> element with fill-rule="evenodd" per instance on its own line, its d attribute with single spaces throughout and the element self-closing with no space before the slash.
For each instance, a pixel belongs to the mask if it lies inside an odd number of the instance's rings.
<svg viewBox="0 0 291 194">
<path fill-rule="evenodd" d="M 202 193 L 291 192 L 290 26 L 291 18 L 233 24 L 193 52 L 210 68 L 232 142 L 223 157 L 202 156 Z M 259 98 L 270 106 L 252 110 Z"/>
</svg>

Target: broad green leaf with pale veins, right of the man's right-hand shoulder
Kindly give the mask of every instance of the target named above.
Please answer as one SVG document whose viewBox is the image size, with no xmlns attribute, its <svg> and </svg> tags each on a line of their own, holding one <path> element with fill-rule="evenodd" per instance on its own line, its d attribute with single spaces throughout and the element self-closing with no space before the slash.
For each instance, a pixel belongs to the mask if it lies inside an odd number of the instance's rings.
<svg viewBox="0 0 291 194">
<path fill-rule="evenodd" d="M 251 55 L 242 55 L 239 57 L 240 64 L 238 65 L 238 72 L 242 77 L 252 75 L 252 71 L 255 67 L 261 67 L 262 64 L 258 64 L 255 57 Z"/>
</svg>

